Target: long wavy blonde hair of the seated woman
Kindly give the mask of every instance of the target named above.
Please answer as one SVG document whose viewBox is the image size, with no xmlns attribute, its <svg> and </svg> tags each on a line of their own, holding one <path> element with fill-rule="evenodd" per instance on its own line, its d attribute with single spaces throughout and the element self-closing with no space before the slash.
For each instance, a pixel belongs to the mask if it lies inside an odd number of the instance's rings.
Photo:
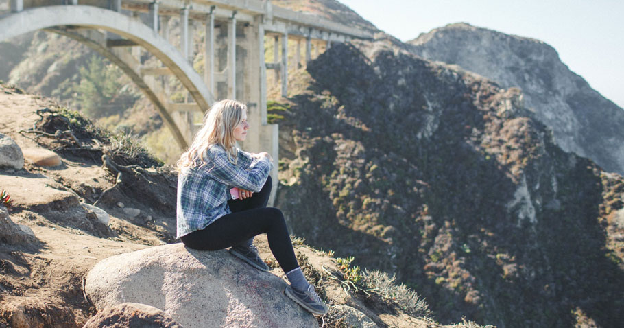
<svg viewBox="0 0 624 328">
<path fill-rule="evenodd" d="M 195 135 L 193 143 L 176 163 L 178 172 L 182 169 L 206 165 L 205 154 L 212 145 L 220 145 L 228 153 L 228 160 L 237 163 L 237 147 L 234 129 L 243 120 L 247 106 L 236 100 L 225 99 L 213 104 L 204 115 L 204 124 Z"/>
</svg>

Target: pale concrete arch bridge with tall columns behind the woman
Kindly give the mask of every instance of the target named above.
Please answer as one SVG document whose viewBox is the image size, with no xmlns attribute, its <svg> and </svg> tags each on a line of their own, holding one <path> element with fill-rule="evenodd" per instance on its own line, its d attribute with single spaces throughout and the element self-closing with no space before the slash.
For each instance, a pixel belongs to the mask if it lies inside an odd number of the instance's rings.
<svg viewBox="0 0 624 328">
<path fill-rule="evenodd" d="M 169 42 L 169 19 L 179 19 L 179 48 Z M 205 28 L 202 75 L 192 65 L 197 21 Z M 289 38 L 298 40 L 296 65 L 301 43 L 307 62 L 313 47 L 317 53 L 333 42 L 372 38 L 368 32 L 260 0 L 8 0 L 8 8 L 0 7 L 0 41 L 36 30 L 69 36 L 118 65 L 154 104 L 182 150 L 195 132 L 194 113 L 205 113 L 215 99 L 245 102 L 252 127 L 243 147 L 268 151 L 274 159 L 278 126 L 267 124 L 267 69 L 275 71 L 286 95 Z M 273 62 L 265 60 L 265 36 L 274 37 Z M 141 51 L 158 58 L 160 65 L 143 65 Z M 171 101 L 161 78 L 171 75 L 193 102 Z"/>
</svg>

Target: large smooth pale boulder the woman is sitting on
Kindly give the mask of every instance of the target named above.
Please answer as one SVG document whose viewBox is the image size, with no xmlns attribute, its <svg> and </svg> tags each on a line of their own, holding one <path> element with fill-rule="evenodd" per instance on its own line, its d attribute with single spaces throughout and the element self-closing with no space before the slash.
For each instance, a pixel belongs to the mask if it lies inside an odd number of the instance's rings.
<svg viewBox="0 0 624 328">
<path fill-rule="evenodd" d="M 318 327 L 285 287 L 225 250 L 168 244 L 100 261 L 87 274 L 85 292 L 97 309 L 143 303 L 185 328 Z"/>
</svg>

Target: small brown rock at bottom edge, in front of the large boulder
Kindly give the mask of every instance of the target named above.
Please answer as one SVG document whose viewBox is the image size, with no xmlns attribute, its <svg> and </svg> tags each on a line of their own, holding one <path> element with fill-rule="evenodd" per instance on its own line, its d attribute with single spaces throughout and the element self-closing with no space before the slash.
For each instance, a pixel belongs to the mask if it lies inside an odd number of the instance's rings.
<svg viewBox="0 0 624 328">
<path fill-rule="evenodd" d="M 182 328 L 165 312 L 139 303 L 106 307 L 89 319 L 82 328 Z"/>
</svg>

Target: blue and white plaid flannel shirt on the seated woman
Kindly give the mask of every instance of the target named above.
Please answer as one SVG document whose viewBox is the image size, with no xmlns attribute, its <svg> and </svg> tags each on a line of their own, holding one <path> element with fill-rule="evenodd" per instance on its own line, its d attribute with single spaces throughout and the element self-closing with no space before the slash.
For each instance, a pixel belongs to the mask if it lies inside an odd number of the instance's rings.
<svg viewBox="0 0 624 328">
<path fill-rule="evenodd" d="M 232 187 L 254 192 L 262 189 L 273 163 L 266 158 L 255 159 L 242 150 L 238 150 L 237 156 L 234 165 L 228 161 L 224 148 L 213 145 L 204 154 L 206 165 L 180 172 L 176 207 L 178 238 L 232 213 L 228 207 Z"/>
</svg>

